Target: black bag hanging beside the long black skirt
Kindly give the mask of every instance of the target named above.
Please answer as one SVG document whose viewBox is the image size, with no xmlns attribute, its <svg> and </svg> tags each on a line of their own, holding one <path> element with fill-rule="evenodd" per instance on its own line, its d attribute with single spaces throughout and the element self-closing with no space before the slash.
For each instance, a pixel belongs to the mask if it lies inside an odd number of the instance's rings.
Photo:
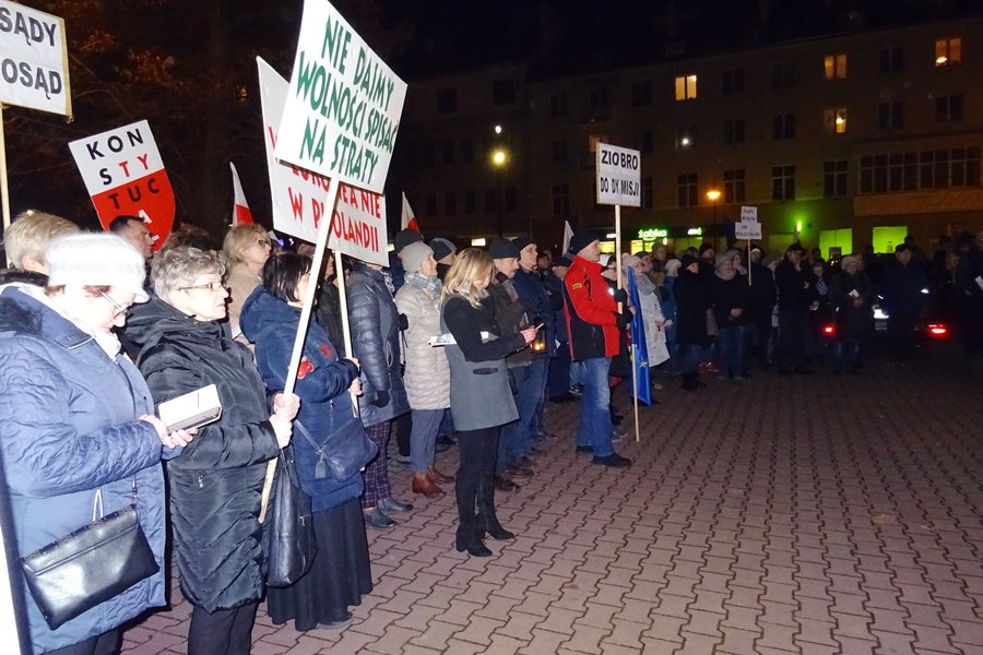
<svg viewBox="0 0 983 655">
<path fill-rule="evenodd" d="M 263 521 L 267 584 L 285 587 L 300 580 L 318 552 L 310 497 L 300 489 L 294 451 L 280 451 Z"/>
</svg>

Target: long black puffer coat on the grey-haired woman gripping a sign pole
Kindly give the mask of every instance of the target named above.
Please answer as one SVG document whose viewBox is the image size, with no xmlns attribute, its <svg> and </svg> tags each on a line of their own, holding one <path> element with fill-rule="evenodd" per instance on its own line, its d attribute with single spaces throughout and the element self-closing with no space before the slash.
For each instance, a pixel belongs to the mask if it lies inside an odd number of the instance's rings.
<svg viewBox="0 0 983 655">
<path fill-rule="evenodd" d="M 215 384 L 222 417 L 167 463 L 181 592 L 208 611 L 259 600 L 265 562 L 259 524 L 267 461 L 280 453 L 263 380 L 246 346 L 156 296 L 134 307 L 126 334 L 158 403 Z"/>
</svg>

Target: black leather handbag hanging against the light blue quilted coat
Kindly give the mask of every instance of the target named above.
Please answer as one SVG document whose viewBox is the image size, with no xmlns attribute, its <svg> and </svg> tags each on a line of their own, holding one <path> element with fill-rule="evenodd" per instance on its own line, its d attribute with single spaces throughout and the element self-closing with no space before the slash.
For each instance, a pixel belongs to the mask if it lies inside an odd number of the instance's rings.
<svg viewBox="0 0 983 655">
<path fill-rule="evenodd" d="M 161 570 L 140 527 L 135 497 L 134 478 L 133 504 L 96 519 L 103 505 L 97 490 L 92 523 L 21 558 L 27 588 L 51 630 Z"/>
</svg>

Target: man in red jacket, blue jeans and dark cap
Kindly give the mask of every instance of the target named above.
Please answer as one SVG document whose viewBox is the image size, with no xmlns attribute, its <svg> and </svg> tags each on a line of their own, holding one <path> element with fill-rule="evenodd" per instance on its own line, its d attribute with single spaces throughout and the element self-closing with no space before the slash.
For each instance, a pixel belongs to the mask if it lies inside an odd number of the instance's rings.
<svg viewBox="0 0 983 655">
<path fill-rule="evenodd" d="M 631 460 L 614 451 L 611 425 L 611 388 L 607 372 L 618 354 L 618 330 L 631 322 L 618 312 L 618 300 L 601 276 L 601 242 L 591 231 L 570 239 L 573 263 L 564 277 L 564 301 L 570 356 L 583 365 L 583 408 L 577 430 L 577 452 L 593 452 L 594 464 L 624 468 Z M 624 291 L 620 291 L 624 294 Z M 624 301 L 624 299 L 623 299 Z"/>
</svg>

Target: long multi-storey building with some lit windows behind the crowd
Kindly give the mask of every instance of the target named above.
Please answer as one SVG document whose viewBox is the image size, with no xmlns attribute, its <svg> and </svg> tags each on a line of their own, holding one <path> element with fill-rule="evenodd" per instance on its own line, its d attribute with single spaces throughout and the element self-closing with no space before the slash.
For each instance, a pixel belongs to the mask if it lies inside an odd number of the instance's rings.
<svg viewBox="0 0 983 655">
<path fill-rule="evenodd" d="M 723 246 L 742 205 L 769 250 L 929 247 L 983 228 L 981 81 L 983 17 L 561 79 L 513 62 L 411 82 L 394 166 L 423 229 L 461 240 L 609 231 L 601 141 L 642 153 L 625 249 Z"/>
</svg>

